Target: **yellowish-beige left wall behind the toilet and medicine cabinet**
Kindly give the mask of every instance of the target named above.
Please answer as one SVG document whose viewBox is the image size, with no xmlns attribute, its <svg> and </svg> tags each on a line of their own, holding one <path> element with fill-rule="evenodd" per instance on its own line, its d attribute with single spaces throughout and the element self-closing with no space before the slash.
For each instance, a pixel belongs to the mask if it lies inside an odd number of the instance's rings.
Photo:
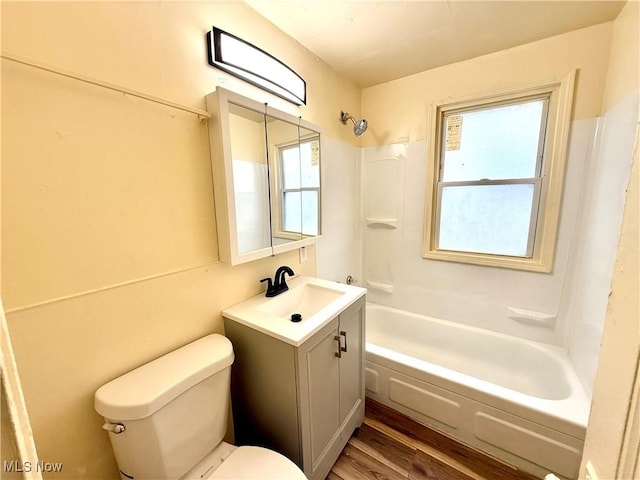
<svg viewBox="0 0 640 480">
<path fill-rule="evenodd" d="M 239 2 L 2 2 L 2 50 L 196 108 L 216 85 L 319 124 L 360 93 Z M 206 64 L 211 24 L 307 80 L 295 107 Z M 217 261 L 206 124 L 197 116 L 2 61 L 2 298 L 40 458 L 57 478 L 117 478 L 93 394 L 210 332 L 297 252 Z"/>
</svg>

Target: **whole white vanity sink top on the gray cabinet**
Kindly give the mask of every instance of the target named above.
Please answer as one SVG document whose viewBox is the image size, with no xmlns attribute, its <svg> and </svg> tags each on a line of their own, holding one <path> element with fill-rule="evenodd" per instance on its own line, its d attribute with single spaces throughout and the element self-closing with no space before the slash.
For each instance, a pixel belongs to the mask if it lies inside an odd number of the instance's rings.
<svg viewBox="0 0 640 480">
<path fill-rule="evenodd" d="M 299 346 L 366 293 L 364 288 L 313 277 L 294 277 L 287 284 L 289 290 L 276 297 L 261 293 L 224 309 L 222 315 Z M 301 320 L 292 321 L 294 313 Z"/>
</svg>

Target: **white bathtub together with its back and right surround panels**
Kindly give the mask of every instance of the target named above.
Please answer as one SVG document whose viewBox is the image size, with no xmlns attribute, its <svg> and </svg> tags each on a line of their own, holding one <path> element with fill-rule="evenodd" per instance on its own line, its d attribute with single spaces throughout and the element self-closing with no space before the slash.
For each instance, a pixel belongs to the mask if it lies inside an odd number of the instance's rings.
<svg viewBox="0 0 640 480">
<path fill-rule="evenodd" d="M 423 259 L 426 142 L 361 149 L 370 397 L 534 474 L 578 474 L 630 167 L 604 163 L 631 158 L 637 105 L 572 122 L 549 274 Z"/>
</svg>

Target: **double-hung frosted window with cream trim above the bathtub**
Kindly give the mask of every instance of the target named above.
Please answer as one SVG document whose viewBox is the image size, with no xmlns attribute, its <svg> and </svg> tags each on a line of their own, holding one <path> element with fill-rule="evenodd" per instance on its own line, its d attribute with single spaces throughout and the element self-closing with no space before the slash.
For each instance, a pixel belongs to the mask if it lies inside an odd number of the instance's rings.
<svg viewBox="0 0 640 480">
<path fill-rule="evenodd" d="M 425 258 L 551 271 L 573 78 L 431 104 Z"/>
</svg>

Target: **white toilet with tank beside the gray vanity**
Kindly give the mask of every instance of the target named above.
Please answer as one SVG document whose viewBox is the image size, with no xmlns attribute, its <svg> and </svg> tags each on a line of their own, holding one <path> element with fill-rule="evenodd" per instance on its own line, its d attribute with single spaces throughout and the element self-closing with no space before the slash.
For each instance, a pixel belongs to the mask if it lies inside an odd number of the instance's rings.
<svg viewBox="0 0 640 480">
<path fill-rule="evenodd" d="M 112 380 L 95 393 L 122 480 L 305 480 L 291 460 L 223 442 L 233 347 L 212 334 Z"/>
</svg>

